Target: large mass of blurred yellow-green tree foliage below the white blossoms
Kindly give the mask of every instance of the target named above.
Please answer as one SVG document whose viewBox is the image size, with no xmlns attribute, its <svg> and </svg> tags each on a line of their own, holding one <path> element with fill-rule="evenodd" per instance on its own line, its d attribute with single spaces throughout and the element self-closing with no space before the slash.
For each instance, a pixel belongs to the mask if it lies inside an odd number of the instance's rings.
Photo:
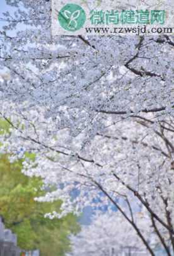
<svg viewBox="0 0 174 256">
<path fill-rule="evenodd" d="M 73 214 L 44 218 L 46 212 L 59 211 L 61 202 L 36 202 L 34 198 L 44 194 L 41 179 L 26 177 L 21 166 L 22 160 L 11 164 L 8 156 L 0 156 L 0 214 L 6 227 L 18 235 L 18 246 L 25 250 L 40 249 L 41 256 L 65 255 L 70 250 L 67 236 L 79 231 L 77 219 Z"/>
</svg>

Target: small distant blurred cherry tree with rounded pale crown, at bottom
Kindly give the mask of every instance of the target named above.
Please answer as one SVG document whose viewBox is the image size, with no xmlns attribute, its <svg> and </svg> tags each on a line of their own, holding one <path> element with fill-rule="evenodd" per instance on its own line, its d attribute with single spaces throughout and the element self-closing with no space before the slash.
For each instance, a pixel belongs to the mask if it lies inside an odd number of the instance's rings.
<svg viewBox="0 0 174 256">
<path fill-rule="evenodd" d="M 137 214 L 139 213 L 137 212 Z M 144 222 L 143 218 L 139 217 L 137 221 L 139 221 L 141 230 L 144 230 L 148 236 L 149 233 L 146 230 L 147 223 Z M 122 253 L 126 253 L 127 249 L 129 252 L 133 253 L 131 255 L 148 255 L 146 248 L 141 245 L 141 241 L 139 241 L 138 236 L 136 236 L 136 232 L 131 229 L 131 226 L 126 221 L 122 222 L 122 217 L 119 213 L 117 214 L 117 221 L 116 214 L 113 214 L 113 212 L 97 214 L 90 226 L 84 225 L 82 231 L 77 236 L 71 236 L 70 238 L 72 242 L 72 252 L 67 253 L 67 256 L 123 255 Z M 153 238 L 152 232 L 149 237 L 151 243 Z M 129 245 L 129 247 L 126 245 Z M 153 246 L 154 245 L 155 244 L 153 244 Z"/>
</svg>

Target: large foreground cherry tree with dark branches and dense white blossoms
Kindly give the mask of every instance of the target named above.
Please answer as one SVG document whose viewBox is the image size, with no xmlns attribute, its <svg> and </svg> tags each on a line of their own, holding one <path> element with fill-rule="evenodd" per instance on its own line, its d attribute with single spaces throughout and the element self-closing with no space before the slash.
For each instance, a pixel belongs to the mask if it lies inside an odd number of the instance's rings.
<svg viewBox="0 0 174 256">
<path fill-rule="evenodd" d="M 6 3 L 16 11 L 1 18 L 0 115 L 10 125 L 1 152 L 24 158 L 26 175 L 54 185 L 36 199 L 63 200 L 62 213 L 47 217 L 116 207 L 116 223 L 122 216 L 150 255 L 153 230 L 171 256 L 173 37 L 52 37 L 50 1 Z M 148 216 L 143 230 L 137 207 Z"/>
</svg>

